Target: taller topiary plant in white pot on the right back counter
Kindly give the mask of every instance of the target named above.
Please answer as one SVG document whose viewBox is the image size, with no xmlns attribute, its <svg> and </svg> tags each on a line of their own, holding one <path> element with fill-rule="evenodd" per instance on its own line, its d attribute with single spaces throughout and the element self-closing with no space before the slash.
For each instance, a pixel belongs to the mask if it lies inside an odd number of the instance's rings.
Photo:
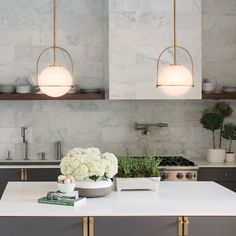
<svg viewBox="0 0 236 236">
<path fill-rule="evenodd" d="M 209 162 L 224 162 L 225 150 L 222 146 L 222 133 L 225 118 L 231 116 L 233 110 L 228 103 L 218 102 L 213 108 L 203 112 L 200 123 L 203 128 L 212 132 L 213 149 L 207 150 Z M 216 145 L 216 131 L 219 131 L 219 145 Z"/>
</svg>

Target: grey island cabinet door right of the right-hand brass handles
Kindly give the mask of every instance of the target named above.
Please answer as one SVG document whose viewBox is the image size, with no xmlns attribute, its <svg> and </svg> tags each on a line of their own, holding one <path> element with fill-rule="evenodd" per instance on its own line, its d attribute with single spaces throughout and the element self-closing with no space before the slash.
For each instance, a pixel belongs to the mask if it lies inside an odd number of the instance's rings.
<svg viewBox="0 0 236 236">
<path fill-rule="evenodd" d="M 235 236 L 236 217 L 190 217 L 189 236 Z"/>
</svg>

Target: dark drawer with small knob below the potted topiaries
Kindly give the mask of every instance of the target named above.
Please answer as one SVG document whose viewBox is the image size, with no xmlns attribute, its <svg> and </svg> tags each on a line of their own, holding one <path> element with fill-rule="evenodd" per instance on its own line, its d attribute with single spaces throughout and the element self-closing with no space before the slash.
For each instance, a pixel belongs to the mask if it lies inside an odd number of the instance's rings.
<svg viewBox="0 0 236 236">
<path fill-rule="evenodd" d="M 236 182 L 236 168 L 200 168 L 198 180 Z"/>
</svg>

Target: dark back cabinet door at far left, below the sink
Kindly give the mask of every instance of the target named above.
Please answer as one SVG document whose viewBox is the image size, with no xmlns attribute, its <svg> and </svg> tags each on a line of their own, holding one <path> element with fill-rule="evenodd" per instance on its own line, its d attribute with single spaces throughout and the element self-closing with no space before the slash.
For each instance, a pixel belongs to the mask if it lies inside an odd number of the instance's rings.
<svg viewBox="0 0 236 236">
<path fill-rule="evenodd" d="M 0 198 L 9 181 L 20 181 L 21 169 L 0 169 Z"/>
</svg>

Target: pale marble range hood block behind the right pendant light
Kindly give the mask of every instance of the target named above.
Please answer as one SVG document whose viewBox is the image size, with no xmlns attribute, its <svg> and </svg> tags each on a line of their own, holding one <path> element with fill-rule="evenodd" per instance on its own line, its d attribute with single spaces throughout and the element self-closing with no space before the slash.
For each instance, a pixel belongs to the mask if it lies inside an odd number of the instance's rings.
<svg viewBox="0 0 236 236">
<path fill-rule="evenodd" d="M 156 88 L 157 58 L 173 45 L 173 0 L 109 0 L 109 99 L 200 99 L 201 0 L 177 0 L 177 44 L 191 53 L 195 87 L 171 97 Z M 188 63 L 177 51 L 177 59 Z M 171 63 L 168 52 L 162 64 Z"/>
</svg>

